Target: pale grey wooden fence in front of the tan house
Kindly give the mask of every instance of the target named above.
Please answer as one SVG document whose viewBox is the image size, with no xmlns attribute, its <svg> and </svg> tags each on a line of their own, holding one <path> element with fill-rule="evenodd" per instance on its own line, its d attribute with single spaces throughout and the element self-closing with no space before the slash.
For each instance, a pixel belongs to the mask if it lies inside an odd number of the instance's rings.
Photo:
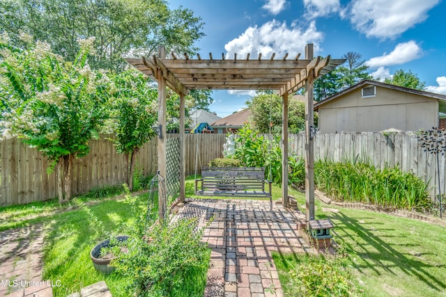
<svg viewBox="0 0 446 297">
<path fill-rule="evenodd" d="M 305 135 L 290 136 L 290 150 L 299 156 L 305 155 Z M 429 195 L 438 195 L 436 155 L 424 152 L 413 133 L 360 133 L 316 134 L 314 160 L 370 161 L 376 168 L 398 166 L 404 172 L 413 172 L 428 184 Z M 446 190 L 446 159 L 440 155 L 440 188 Z"/>
</svg>

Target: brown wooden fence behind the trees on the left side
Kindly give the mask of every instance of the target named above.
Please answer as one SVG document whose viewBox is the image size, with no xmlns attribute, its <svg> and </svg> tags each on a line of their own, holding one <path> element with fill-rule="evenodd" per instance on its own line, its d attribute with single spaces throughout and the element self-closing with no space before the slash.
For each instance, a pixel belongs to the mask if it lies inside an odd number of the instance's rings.
<svg viewBox="0 0 446 297">
<path fill-rule="evenodd" d="M 168 134 L 168 137 L 175 134 Z M 185 170 L 192 175 L 201 166 L 222 157 L 224 134 L 185 134 Z M 93 188 L 122 184 L 125 159 L 118 154 L 110 138 L 102 135 L 91 141 L 90 152 L 75 159 L 72 171 L 72 194 L 80 195 Z M 198 154 L 197 154 L 198 152 Z M 137 154 L 137 164 L 144 176 L 157 171 L 157 139 Z M 57 196 L 55 172 L 47 174 L 49 162 L 41 152 L 13 138 L 0 142 L 0 206 L 44 201 Z"/>
</svg>

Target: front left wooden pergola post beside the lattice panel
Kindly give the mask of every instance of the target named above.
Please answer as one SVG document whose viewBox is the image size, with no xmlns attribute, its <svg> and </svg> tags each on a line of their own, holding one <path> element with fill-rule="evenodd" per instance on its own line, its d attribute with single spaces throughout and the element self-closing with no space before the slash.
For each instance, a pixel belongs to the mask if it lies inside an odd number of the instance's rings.
<svg viewBox="0 0 446 297">
<path fill-rule="evenodd" d="M 160 46 L 158 47 L 158 57 L 166 58 L 166 49 Z M 161 137 L 158 137 L 158 170 L 160 171 L 160 175 L 167 177 L 167 161 L 166 161 L 166 80 L 163 77 L 162 69 L 160 67 L 157 68 L 157 81 L 158 81 L 158 125 L 161 126 Z M 159 183 L 158 186 L 161 186 L 162 183 Z M 162 199 L 162 195 L 160 193 L 164 193 L 164 189 L 159 188 L 158 191 L 158 215 L 160 221 L 164 220 L 164 209 L 167 207 L 164 205 L 164 199 Z"/>
</svg>

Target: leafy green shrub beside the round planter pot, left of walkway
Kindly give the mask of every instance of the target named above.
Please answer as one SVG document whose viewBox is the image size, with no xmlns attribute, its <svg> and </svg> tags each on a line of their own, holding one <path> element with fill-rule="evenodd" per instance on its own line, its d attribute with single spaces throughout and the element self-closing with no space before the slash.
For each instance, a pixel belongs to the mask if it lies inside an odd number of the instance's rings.
<svg viewBox="0 0 446 297">
<path fill-rule="evenodd" d="M 148 234 L 134 234 L 112 264 L 137 296 L 203 296 L 210 252 L 202 234 L 197 220 L 155 224 Z"/>
</svg>

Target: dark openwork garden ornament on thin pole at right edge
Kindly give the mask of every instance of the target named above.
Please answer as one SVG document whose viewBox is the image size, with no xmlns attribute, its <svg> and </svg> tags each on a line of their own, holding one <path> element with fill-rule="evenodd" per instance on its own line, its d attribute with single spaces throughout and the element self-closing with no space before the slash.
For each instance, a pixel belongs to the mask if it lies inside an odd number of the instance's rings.
<svg viewBox="0 0 446 297">
<path fill-rule="evenodd" d="M 440 186 L 440 154 L 443 156 L 446 152 L 446 131 L 440 130 L 436 127 L 429 129 L 427 131 L 420 131 L 418 136 L 418 141 L 420 147 L 424 148 L 424 152 L 429 152 L 429 154 L 435 154 L 437 159 L 437 177 L 438 177 L 438 203 L 440 204 L 440 218 L 443 214 L 443 205 L 441 197 L 441 186 Z"/>
</svg>

